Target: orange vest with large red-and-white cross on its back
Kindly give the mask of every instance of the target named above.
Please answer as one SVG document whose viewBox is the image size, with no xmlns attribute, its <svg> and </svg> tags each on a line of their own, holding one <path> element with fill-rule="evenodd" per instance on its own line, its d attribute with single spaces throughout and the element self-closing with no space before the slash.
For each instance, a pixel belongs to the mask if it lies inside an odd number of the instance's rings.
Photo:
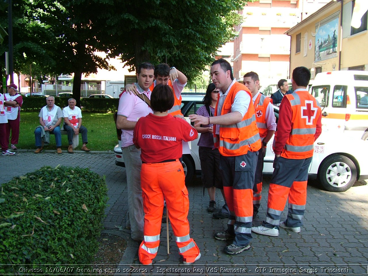
<svg viewBox="0 0 368 276">
<path fill-rule="evenodd" d="M 292 123 L 290 136 L 281 151 L 281 156 L 289 159 L 312 157 L 321 106 L 308 91 L 297 91 L 284 97 L 291 105 Z"/>
</svg>

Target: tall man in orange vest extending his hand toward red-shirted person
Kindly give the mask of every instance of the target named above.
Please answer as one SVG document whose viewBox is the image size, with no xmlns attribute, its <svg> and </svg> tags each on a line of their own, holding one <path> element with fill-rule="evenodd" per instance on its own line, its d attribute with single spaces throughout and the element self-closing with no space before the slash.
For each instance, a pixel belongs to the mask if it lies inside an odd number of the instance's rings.
<svg viewBox="0 0 368 276">
<path fill-rule="evenodd" d="M 224 248 L 234 255 L 250 249 L 254 174 L 261 149 L 249 89 L 233 77 L 231 65 L 218 59 L 211 66 L 212 82 L 220 88 L 215 116 L 190 115 L 194 126 L 213 124 L 213 140 L 220 151 L 220 169 L 230 216 L 217 240 L 233 240 Z"/>
</svg>

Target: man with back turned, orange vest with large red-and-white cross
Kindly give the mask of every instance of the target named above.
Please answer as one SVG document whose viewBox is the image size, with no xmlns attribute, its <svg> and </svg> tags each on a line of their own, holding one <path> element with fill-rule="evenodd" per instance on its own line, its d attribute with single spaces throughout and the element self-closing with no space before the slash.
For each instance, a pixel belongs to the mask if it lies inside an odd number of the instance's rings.
<svg viewBox="0 0 368 276">
<path fill-rule="evenodd" d="M 306 67 L 293 71 L 294 92 L 285 95 L 280 105 L 274 140 L 275 160 L 268 191 L 266 220 L 252 231 L 279 236 L 279 227 L 300 232 L 307 202 L 308 168 L 312 162 L 314 142 L 322 132 L 321 106 L 308 92 L 311 72 Z M 286 200 L 287 219 L 280 222 Z"/>
</svg>

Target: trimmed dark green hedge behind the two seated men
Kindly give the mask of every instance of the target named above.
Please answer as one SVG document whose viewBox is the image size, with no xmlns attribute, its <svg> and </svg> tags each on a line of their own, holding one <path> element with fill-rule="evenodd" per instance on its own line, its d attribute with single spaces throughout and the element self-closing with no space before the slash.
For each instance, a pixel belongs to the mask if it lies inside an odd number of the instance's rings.
<svg viewBox="0 0 368 276">
<path fill-rule="evenodd" d="M 68 105 L 68 97 L 55 97 L 55 105 L 63 109 Z M 23 97 L 23 105 L 21 110 L 24 111 L 39 111 L 46 105 L 46 98 L 44 97 Z M 82 98 L 81 106 L 83 111 L 107 113 L 115 112 L 119 106 L 119 99 L 96 99 L 96 98 Z"/>
</svg>

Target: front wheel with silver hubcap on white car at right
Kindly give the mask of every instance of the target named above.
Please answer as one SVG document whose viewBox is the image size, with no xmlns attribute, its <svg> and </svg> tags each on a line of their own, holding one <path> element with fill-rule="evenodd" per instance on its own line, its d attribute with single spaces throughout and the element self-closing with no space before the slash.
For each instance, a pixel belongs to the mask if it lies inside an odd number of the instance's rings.
<svg viewBox="0 0 368 276">
<path fill-rule="evenodd" d="M 346 156 L 331 155 L 319 166 L 317 178 L 326 191 L 344 192 L 354 185 L 357 168 Z"/>
</svg>

